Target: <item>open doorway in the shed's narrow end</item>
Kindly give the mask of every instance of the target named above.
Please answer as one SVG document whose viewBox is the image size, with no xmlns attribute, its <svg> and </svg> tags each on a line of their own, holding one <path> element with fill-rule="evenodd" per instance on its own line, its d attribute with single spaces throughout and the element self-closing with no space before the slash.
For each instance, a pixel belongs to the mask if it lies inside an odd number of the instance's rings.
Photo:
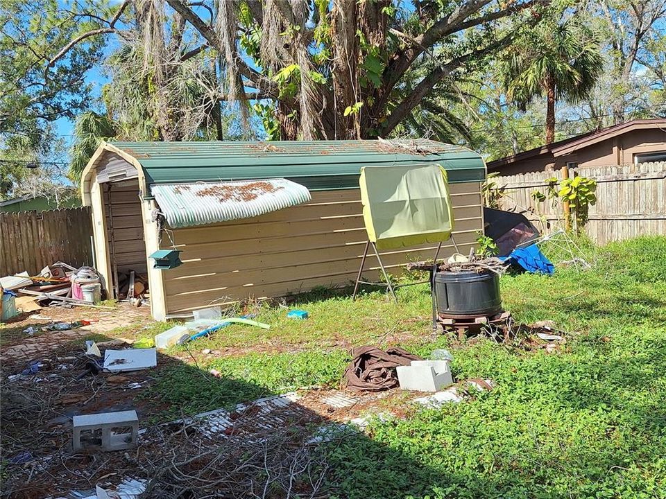
<svg viewBox="0 0 666 499">
<path fill-rule="evenodd" d="M 132 270 L 137 281 L 148 283 L 139 181 L 105 182 L 102 186 L 112 289 L 115 298 L 124 299 Z"/>
</svg>

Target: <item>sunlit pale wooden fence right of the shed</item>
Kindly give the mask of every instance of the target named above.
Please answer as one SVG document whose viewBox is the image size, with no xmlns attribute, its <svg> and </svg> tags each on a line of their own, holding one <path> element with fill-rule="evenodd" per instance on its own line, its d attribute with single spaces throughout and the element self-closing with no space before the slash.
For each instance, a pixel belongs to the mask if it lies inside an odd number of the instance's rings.
<svg viewBox="0 0 666 499">
<path fill-rule="evenodd" d="M 636 236 L 666 234 L 666 161 L 625 166 L 575 168 L 570 176 L 597 181 L 597 204 L 590 207 L 586 231 L 593 240 L 605 244 Z M 532 193 L 546 194 L 548 178 L 561 179 L 561 171 L 506 175 L 495 180 L 506 186 L 502 209 L 527 211 L 545 233 L 563 226 L 562 204 L 538 202 Z"/>
</svg>

